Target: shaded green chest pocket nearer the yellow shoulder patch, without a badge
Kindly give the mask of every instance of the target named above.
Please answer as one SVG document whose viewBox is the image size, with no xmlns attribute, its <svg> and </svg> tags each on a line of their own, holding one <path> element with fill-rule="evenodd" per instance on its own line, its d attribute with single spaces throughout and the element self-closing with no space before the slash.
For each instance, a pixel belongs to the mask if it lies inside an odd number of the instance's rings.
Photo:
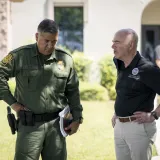
<svg viewBox="0 0 160 160">
<path fill-rule="evenodd" d="M 24 69 L 22 70 L 23 85 L 29 91 L 36 91 L 41 84 L 41 70 L 38 69 Z"/>
</svg>

